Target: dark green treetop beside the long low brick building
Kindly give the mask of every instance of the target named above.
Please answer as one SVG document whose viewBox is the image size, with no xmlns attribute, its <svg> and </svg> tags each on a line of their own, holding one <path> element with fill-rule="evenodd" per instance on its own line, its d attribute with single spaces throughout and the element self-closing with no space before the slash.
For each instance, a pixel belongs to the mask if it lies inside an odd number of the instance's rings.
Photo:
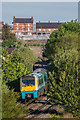
<svg viewBox="0 0 80 120">
<path fill-rule="evenodd" d="M 72 34 L 72 32 L 75 34 L 80 34 L 80 26 L 79 24 L 75 21 L 71 21 L 68 23 L 63 23 L 59 30 L 54 31 L 50 35 L 50 39 L 47 41 L 47 44 L 45 45 L 45 51 L 43 53 L 44 56 L 48 57 L 51 59 L 51 54 L 55 54 L 55 44 L 56 42 L 60 42 L 61 37 L 63 37 L 66 34 Z M 67 35 L 66 35 L 67 36 Z M 65 42 L 65 41 L 64 41 Z"/>
</svg>

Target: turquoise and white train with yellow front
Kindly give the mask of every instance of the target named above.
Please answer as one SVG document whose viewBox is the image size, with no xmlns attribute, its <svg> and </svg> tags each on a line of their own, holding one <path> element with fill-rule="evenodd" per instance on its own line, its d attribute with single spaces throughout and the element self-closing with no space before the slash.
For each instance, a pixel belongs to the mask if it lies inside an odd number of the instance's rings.
<svg viewBox="0 0 80 120">
<path fill-rule="evenodd" d="M 47 89 L 48 75 L 47 70 L 38 68 L 32 73 L 24 75 L 20 79 L 20 91 L 22 99 L 38 98 Z"/>
</svg>

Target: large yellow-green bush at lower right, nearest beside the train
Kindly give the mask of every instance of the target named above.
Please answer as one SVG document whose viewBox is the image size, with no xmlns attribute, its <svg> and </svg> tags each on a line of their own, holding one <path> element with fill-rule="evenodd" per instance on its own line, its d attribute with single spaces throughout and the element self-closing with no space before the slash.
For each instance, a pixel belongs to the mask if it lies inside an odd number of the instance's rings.
<svg viewBox="0 0 80 120">
<path fill-rule="evenodd" d="M 78 51 L 62 50 L 55 55 L 57 68 L 49 73 L 48 98 L 64 107 L 65 111 L 80 116 L 80 81 L 78 77 Z"/>
</svg>

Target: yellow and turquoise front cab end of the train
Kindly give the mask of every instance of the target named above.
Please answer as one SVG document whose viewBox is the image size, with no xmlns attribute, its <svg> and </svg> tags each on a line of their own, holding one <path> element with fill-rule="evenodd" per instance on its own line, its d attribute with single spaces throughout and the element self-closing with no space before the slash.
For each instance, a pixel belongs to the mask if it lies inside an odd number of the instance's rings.
<svg viewBox="0 0 80 120">
<path fill-rule="evenodd" d="M 37 78 L 26 77 L 20 80 L 22 99 L 25 99 L 25 95 L 33 95 L 33 98 L 37 98 Z"/>
</svg>

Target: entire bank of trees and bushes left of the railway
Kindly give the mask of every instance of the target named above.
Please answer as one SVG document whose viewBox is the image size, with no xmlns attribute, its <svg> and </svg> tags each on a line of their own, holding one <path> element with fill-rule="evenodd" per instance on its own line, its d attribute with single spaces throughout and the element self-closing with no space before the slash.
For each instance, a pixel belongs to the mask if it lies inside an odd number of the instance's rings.
<svg viewBox="0 0 80 120">
<path fill-rule="evenodd" d="M 2 50 L 2 118 L 22 118 L 27 115 L 28 109 L 18 102 L 21 100 L 20 78 L 33 71 L 33 64 L 38 58 L 24 41 L 17 40 L 15 35 L 12 38 L 9 36 L 10 29 L 7 32 L 8 36 L 5 33 L 3 37 Z M 7 47 L 15 49 L 8 54 Z"/>
</svg>

